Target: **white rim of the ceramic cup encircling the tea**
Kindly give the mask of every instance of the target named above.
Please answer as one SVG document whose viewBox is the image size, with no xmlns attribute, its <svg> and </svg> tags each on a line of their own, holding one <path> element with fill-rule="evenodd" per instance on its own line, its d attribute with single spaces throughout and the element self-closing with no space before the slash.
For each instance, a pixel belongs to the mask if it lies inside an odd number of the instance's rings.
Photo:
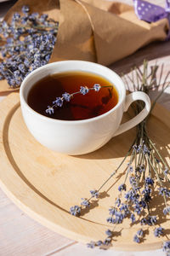
<svg viewBox="0 0 170 256">
<path fill-rule="evenodd" d="M 28 103 L 26 102 L 26 99 L 25 99 L 25 96 L 24 96 L 24 90 L 26 88 L 26 84 L 29 82 L 29 79 L 31 79 L 31 77 L 33 75 L 37 75 L 39 72 L 41 72 L 43 69 L 45 68 L 50 68 L 50 67 L 55 67 L 55 66 L 58 66 L 59 64 L 66 64 L 66 63 L 70 63 L 71 65 L 73 65 L 74 63 L 86 63 L 87 65 L 91 65 L 91 66 L 98 66 L 98 67 L 102 67 L 104 68 L 105 70 L 108 70 L 112 73 L 112 75 L 114 75 L 116 77 L 116 79 L 119 80 L 119 82 L 122 84 L 122 89 L 121 90 L 121 93 L 122 93 L 122 96 L 120 96 L 120 89 L 118 88 L 118 86 L 116 86 L 115 84 L 115 87 L 116 87 L 116 90 L 118 91 L 118 94 L 119 94 L 119 97 L 118 97 L 118 102 L 116 104 L 115 107 L 111 108 L 109 111 L 107 111 L 106 113 L 102 113 L 100 114 L 99 116 L 96 116 L 96 117 L 93 117 L 93 118 L 89 118 L 89 119 L 82 119 L 82 120 L 62 120 L 62 119 L 52 119 L 50 117 L 47 117 L 47 116 L 44 116 L 42 115 L 41 113 L 37 113 L 33 108 L 31 108 Z M 82 71 L 82 70 L 81 70 Z M 92 72 L 93 73 L 93 72 Z M 105 77 L 105 76 L 104 76 Z M 105 79 L 107 79 L 105 77 Z M 31 84 L 32 86 L 33 84 Z M 31 88 L 30 88 L 31 90 Z M 126 96 L 126 89 L 125 89 L 125 85 L 121 79 L 121 77 L 115 73 L 114 71 L 112 71 L 109 67 L 105 67 L 99 63 L 94 63 L 94 62 L 90 62 L 90 61 L 77 61 L 77 60 L 71 60 L 71 61 L 55 61 L 55 62 L 52 62 L 52 63 L 48 63 L 42 67 L 38 67 L 36 70 L 32 71 L 31 73 L 29 73 L 26 78 L 22 81 L 21 85 L 20 85 L 20 102 L 22 102 L 22 104 L 24 104 L 25 108 L 27 108 L 27 110 L 31 113 L 34 113 L 35 115 L 37 115 L 37 117 L 41 118 L 41 119 L 44 119 L 44 120 L 47 120 L 48 122 L 52 122 L 52 123 L 63 123 L 65 125 L 69 124 L 69 125 L 75 125 L 75 124 L 82 124 L 82 123 L 88 123 L 88 122 L 93 122 L 93 121 L 96 121 L 96 120 L 99 120 L 99 119 L 102 119 L 106 116 L 108 116 L 109 114 L 111 114 L 112 112 L 114 112 L 117 108 L 119 108 L 121 105 L 122 105 L 122 102 L 124 101 L 125 99 L 125 96 Z M 121 98 L 120 98 L 121 97 Z"/>
</svg>

